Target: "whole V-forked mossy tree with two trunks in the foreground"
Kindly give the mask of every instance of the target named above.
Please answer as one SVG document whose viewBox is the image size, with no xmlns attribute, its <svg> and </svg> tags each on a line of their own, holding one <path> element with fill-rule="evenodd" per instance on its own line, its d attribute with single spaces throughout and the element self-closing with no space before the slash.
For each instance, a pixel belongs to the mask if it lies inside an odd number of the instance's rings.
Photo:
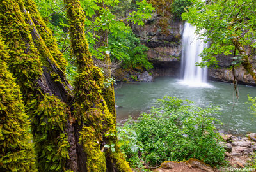
<svg viewBox="0 0 256 172">
<path fill-rule="evenodd" d="M 25 112 L 31 120 L 36 168 L 38 171 L 131 171 L 118 147 L 115 117 L 102 97 L 104 76 L 88 52 L 83 10 L 79 1 L 66 3 L 78 69 L 74 90 L 65 78 L 66 62 L 34 1 L 0 0 L 0 36 L 10 55 L 3 61 L 20 87 Z M 17 94 L 13 103 L 22 103 L 19 89 L 15 88 L 12 88 Z M 10 92 L 6 94 L 12 96 Z M 28 143 L 28 118 L 24 116 L 22 120 L 25 124 L 20 125 L 24 128 L 21 135 Z M 29 166 L 33 171 L 33 160 L 29 161 L 33 157 L 31 144 L 20 145 L 28 153 L 24 152 L 24 161 L 19 159 L 20 164 L 15 164 L 17 168 L 24 166 L 26 170 Z M 115 151 L 105 145 L 112 145 Z M 27 164 L 23 163 L 25 160 Z"/>
</svg>

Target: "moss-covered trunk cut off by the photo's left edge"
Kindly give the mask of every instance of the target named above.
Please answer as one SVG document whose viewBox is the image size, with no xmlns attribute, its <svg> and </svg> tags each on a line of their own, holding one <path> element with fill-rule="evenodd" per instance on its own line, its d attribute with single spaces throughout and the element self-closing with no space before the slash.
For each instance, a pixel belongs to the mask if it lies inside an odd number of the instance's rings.
<svg viewBox="0 0 256 172">
<path fill-rule="evenodd" d="M 0 38 L 0 171 L 36 171 L 28 115 L 20 88 L 7 71 L 8 59 Z"/>
</svg>

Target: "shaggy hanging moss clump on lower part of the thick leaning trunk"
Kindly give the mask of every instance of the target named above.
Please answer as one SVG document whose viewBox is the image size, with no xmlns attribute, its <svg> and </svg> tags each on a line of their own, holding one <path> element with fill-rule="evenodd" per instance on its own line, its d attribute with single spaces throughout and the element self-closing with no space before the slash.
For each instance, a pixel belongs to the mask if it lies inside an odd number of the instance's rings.
<svg viewBox="0 0 256 172">
<path fill-rule="evenodd" d="M 69 145 L 64 133 L 67 122 L 65 103 L 56 96 L 45 95 L 39 103 L 28 105 L 33 111 L 31 125 L 39 171 L 63 171 L 69 158 Z"/>
</svg>

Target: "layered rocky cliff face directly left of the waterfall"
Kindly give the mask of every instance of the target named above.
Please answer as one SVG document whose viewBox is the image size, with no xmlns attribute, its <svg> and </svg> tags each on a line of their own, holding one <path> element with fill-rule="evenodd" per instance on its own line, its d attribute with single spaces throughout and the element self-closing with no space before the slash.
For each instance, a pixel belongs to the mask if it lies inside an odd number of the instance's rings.
<svg viewBox="0 0 256 172">
<path fill-rule="evenodd" d="M 154 65 L 154 76 L 179 76 L 183 25 L 170 15 L 154 14 L 143 27 L 132 26 L 141 43 L 150 48 L 148 59 Z"/>
</svg>

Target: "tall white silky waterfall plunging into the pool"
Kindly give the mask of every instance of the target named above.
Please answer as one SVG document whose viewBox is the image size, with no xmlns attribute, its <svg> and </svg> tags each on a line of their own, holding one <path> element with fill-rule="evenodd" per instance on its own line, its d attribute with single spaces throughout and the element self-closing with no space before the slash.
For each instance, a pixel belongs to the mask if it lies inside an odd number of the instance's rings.
<svg viewBox="0 0 256 172">
<path fill-rule="evenodd" d="M 205 87 L 207 82 L 207 68 L 195 66 L 196 62 L 202 62 L 199 57 L 200 52 L 207 45 L 204 40 L 198 39 L 195 34 L 196 27 L 185 23 L 182 36 L 182 75 L 183 84 L 191 87 Z"/>
</svg>

